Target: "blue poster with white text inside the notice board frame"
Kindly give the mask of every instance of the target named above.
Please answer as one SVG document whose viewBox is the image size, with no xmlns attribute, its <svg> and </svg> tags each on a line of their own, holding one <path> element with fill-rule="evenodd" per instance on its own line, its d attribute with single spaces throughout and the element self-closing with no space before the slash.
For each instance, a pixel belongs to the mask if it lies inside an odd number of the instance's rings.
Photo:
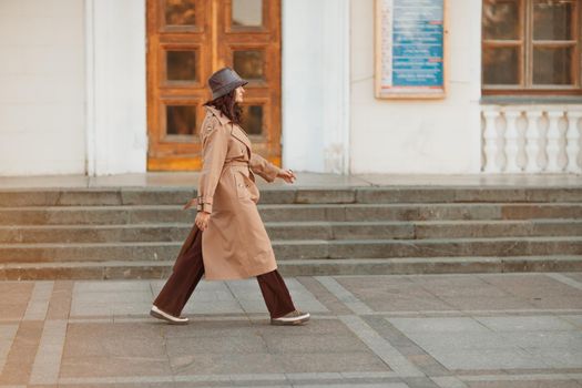
<svg viewBox="0 0 582 388">
<path fill-rule="evenodd" d="M 443 86 L 443 0 L 392 0 L 392 86 Z"/>
</svg>

